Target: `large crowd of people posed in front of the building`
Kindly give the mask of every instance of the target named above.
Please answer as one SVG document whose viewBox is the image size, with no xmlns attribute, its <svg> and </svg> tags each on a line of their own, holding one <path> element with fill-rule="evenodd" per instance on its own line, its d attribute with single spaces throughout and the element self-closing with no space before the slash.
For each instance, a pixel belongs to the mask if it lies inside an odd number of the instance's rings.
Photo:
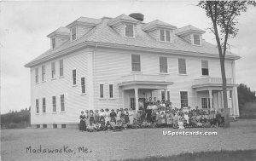
<svg viewBox="0 0 256 161">
<path fill-rule="evenodd" d="M 133 109 L 88 110 L 81 112 L 81 131 L 103 131 L 139 128 L 210 128 L 224 124 L 224 116 L 221 112 L 204 111 L 203 109 L 190 110 L 172 108 L 172 102 L 165 101 L 142 101 L 139 100 L 137 113 Z"/>
</svg>

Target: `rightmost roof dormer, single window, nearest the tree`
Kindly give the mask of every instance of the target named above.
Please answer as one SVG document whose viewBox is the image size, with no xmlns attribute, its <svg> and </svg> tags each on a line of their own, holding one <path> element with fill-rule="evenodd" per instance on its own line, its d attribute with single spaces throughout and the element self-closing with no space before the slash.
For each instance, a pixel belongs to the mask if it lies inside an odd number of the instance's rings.
<svg viewBox="0 0 256 161">
<path fill-rule="evenodd" d="M 178 28 L 176 30 L 176 35 L 179 37 L 182 37 L 183 40 L 186 42 L 196 45 L 196 46 L 201 46 L 202 45 L 202 34 L 205 33 L 205 31 L 196 28 L 195 26 L 183 26 L 181 28 Z"/>
</svg>

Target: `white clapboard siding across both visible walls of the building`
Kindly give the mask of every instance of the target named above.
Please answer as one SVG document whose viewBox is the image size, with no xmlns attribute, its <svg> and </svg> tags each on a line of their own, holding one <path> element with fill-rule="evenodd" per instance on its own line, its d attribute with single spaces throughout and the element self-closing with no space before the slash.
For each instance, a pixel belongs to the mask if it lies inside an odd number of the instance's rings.
<svg viewBox="0 0 256 161">
<path fill-rule="evenodd" d="M 208 60 L 209 77 L 221 78 L 219 60 L 216 58 L 201 58 L 193 56 L 178 56 L 148 52 L 129 51 L 121 49 L 82 49 L 71 55 L 51 60 L 39 66 L 32 67 L 32 124 L 72 124 L 79 123 L 79 113 L 84 110 L 120 107 L 130 107 L 130 98 L 134 90 L 126 90 L 125 98 L 119 88 L 120 78 L 137 72 L 131 72 L 131 55 L 141 55 L 140 74 L 160 75 L 159 58 L 167 57 L 168 73 L 166 77 L 172 81 L 167 90 L 173 106 L 180 107 L 180 91 L 188 91 L 189 106 L 195 106 L 195 90 L 191 88 L 197 78 L 207 78 L 201 75 L 201 60 Z M 178 74 L 178 58 L 186 59 L 187 74 Z M 64 77 L 60 78 L 59 60 L 63 59 Z M 55 62 L 56 78 L 51 79 L 51 63 Z M 42 83 L 42 65 L 45 66 L 46 82 Z M 35 69 L 38 67 L 39 83 L 35 83 Z M 231 61 L 226 60 L 226 76 L 232 78 Z M 77 85 L 73 86 L 72 71 L 77 70 Z M 85 77 L 86 94 L 81 95 L 81 78 Z M 100 84 L 104 84 L 104 98 L 100 98 Z M 109 98 L 109 84 L 113 84 L 113 98 Z M 139 89 L 139 97 L 157 97 L 161 99 L 161 90 Z M 60 95 L 65 95 L 65 112 L 61 112 Z M 215 94 L 213 94 L 215 95 Z M 52 111 L 52 96 L 56 96 L 57 112 Z M 208 97 L 207 92 L 198 96 Z M 46 113 L 43 114 L 42 99 L 46 98 Z M 39 99 L 39 114 L 36 114 L 36 99 Z M 124 104 L 125 103 L 125 104 Z"/>
</svg>

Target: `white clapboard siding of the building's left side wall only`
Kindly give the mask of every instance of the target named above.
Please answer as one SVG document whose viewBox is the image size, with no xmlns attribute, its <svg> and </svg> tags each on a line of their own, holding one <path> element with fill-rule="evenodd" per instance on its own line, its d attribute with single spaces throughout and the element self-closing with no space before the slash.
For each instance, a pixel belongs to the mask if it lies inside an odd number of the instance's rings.
<svg viewBox="0 0 256 161">
<path fill-rule="evenodd" d="M 51 60 L 45 64 L 46 81 L 42 83 L 41 66 L 32 68 L 32 124 L 78 123 L 79 113 L 89 109 L 88 95 L 81 95 L 81 78 L 85 77 L 85 86 L 90 84 L 87 79 L 87 51 L 80 50 L 73 55 Z M 60 78 L 59 60 L 63 59 L 64 77 Z M 55 62 L 56 78 L 51 79 L 51 63 Z M 35 83 L 35 68 L 39 68 L 39 83 Z M 77 70 L 77 85 L 73 86 L 72 70 Z M 61 95 L 65 95 L 65 112 L 61 112 Z M 56 113 L 53 113 L 52 96 L 56 96 Z M 43 97 L 46 99 L 46 112 L 43 113 Z M 36 99 L 39 99 L 39 114 L 36 114 Z"/>
</svg>

